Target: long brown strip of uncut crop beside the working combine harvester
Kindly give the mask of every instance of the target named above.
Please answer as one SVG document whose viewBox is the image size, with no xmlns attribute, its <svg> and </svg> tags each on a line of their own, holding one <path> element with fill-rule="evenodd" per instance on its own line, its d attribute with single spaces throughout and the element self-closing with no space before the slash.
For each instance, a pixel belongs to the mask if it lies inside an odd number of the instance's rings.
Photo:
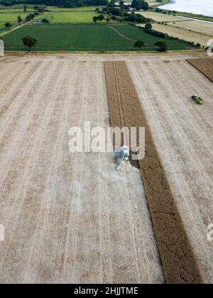
<svg viewBox="0 0 213 298">
<path fill-rule="evenodd" d="M 139 160 L 139 165 L 166 281 L 169 284 L 202 283 L 193 248 L 126 63 L 105 62 L 105 72 L 111 125 L 146 128 L 146 155 Z"/>
</svg>

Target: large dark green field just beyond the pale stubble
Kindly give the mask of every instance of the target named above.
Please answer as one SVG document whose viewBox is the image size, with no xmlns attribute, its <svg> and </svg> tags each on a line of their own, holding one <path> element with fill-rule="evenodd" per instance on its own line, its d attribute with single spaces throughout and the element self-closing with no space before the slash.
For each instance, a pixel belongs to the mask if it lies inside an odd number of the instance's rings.
<svg viewBox="0 0 213 298">
<path fill-rule="evenodd" d="M 140 50 L 155 50 L 154 38 L 129 25 L 107 24 L 49 24 L 23 26 L 4 36 L 6 50 L 26 50 L 21 38 L 30 35 L 38 40 L 35 50 L 43 51 L 116 51 L 136 50 L 133 40 L 143 40 L 146 46 Z M 133 40 L 129 40 L 129 38 Z M 186 43 L 167 40 L 169 50 L 188 50 Z"/>
</svg>

